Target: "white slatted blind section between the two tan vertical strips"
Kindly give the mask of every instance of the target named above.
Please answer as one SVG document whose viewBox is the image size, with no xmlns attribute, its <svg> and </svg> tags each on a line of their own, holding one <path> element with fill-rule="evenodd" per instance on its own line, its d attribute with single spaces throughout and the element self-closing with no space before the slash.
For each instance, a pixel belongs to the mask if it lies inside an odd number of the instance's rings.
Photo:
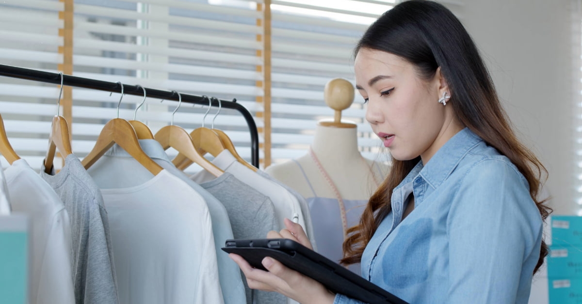
<svg viewBox="0 0 582 304">
<path fill-rule="evenodd" d="M 262 91 L 255 39 L 262 15 L 254 1 L 115 1 L 75 2 L 74 74 L 76 76 L 140 84 L 194 95 L 236 98 L 251 113 Z M 147 92 L 146 96 L 147 96 Z M 102 92 L 74 94 L 73 148 L 88 152 L 102 124 L 115 117 L 116 98 Z M 170 124 L 177 102 L 146 98 L 139 112 L 139 96 L 125 96 L 119 116 L 144 121 L 155 133 Z M 208 108 L 183 103 L 173 123 L 187 131 L 203 126 Z M 205 119 L 210 127 L 216 108 Z M 260 124 L 260 121 L 257 121 Z M 77 124 L 83 129 L 77 130 Z M 93 126 L 97 126 L 94 128 Z M 250 160 L 250 135 L 238 112 L 222 109 L 215 127 L 224 130 L 243 158 Z M 172 157 L 175 154 L 169 151 Z"/>
</svg>

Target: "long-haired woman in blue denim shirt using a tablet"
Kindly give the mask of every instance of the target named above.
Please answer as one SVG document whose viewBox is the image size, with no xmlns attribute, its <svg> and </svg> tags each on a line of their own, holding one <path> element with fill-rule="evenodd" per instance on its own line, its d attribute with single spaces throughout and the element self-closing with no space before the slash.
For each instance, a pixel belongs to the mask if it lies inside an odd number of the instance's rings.
<svg viewBox="0 0 582 304">
<path fill-rule="evenodd" d="M 514 135 L 477 48 L 456 17 L 407 1 L 355 50 L 366 119 L 389 148 L 391 173 L 349 230 L 343 264 L 410 303 L 527 303 L 547 247 L 537 199 L 545 168 Z M 309 246 L 287 221 L 280 234 Z M 358 303 L 274 259 L 251 288 L 301 303 Z"/>
</svg>

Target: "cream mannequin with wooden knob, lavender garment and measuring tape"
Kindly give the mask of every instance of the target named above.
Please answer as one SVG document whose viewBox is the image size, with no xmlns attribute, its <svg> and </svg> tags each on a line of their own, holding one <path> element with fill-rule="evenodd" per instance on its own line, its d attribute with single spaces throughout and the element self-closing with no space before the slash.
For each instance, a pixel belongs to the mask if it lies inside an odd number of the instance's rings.
<svg viewBox="0 0 582 304">
<path fill-rule="evenodd" d="M 335 117 L 333 120 L 319 121 L 315 128 L 310 148 L 317 160 L 308 152 L 289 162 L 269 166 L 265 172 L 306 198 L 318 250 L 338 262 L 342 257 L 346 224 L 352 227 L 358 223 L 365 204 L 384 180 L 388 167 L 361 156 L 356 124 L 341 120 L 342 110 L 352 105 L 353 85 L 342 78 L 332 79 L 325 85 L 324 99 L 335 110 Z M 326 178 L 326 173 L 337 193 Z M 344 224 L 338 195 L 346 210 L 347 223 Z M 333 241 L 329 238 L 330 234 L 335 235 Z M 350 270 L 359 272 L 359 266 L 350 267 Z"/>
</svg>

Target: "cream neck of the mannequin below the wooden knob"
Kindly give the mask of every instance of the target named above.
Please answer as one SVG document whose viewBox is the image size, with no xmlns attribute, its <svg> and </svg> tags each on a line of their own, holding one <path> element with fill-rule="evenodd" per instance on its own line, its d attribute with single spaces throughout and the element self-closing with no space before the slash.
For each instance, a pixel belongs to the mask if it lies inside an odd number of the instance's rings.
<svg viewBox="0 0 582 304">
<path fill-rule="evenodd" d="M 324 163 L 345 162 L 361 158 L 358 151 L 357 128 L 338 128 L 317 125 L 311 149 Z"/>
</svg>

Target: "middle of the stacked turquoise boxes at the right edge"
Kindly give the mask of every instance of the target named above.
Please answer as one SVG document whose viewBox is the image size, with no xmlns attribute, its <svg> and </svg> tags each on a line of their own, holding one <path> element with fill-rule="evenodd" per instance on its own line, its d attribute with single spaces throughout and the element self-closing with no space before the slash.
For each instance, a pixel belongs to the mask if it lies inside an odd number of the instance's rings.
<svg viewBox="0 0 582 304">
<path fill-rule="evenodd" d="M 551 246 L 546 261 L 548 278 L 582 279 L 582 248 Z"/>
</svg>

